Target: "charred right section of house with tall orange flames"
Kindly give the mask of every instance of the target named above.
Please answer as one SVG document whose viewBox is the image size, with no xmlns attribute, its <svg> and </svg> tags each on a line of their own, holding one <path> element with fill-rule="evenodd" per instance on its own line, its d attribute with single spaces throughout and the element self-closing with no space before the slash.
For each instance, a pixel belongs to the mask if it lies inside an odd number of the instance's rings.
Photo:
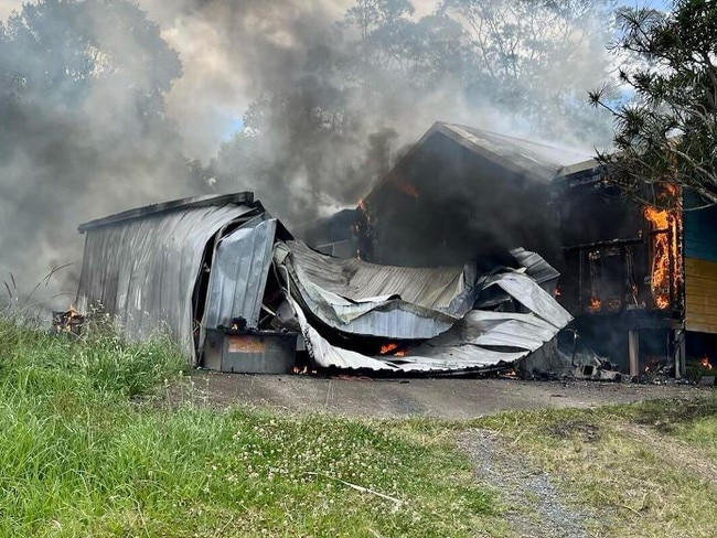
<svg viewBox="0 0 717 538">
<path fill-rule="evenodd" d="M 554 183 L 565 271 L 560 302 L 600 354 L 631 375 L 681 366 L 684 337 L 681 193 L 670 185 L 639 204 L 592 168 Z M 641 345 L 642 344 L 642 345 Z"/>
</svg>

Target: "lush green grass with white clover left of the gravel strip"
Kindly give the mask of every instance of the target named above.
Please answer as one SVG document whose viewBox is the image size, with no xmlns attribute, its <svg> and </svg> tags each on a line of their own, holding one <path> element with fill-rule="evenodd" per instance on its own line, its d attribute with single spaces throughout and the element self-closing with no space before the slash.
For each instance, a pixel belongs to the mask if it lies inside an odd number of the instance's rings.
<svg viewBox="0 0 717 538">
<path fill-rule="evenodd" d="M 443 537 L 499 525 L 450 430 L 165 406 L 183 365 L 163 338 L 0 321 L 0 536 Z"/>
</svg>

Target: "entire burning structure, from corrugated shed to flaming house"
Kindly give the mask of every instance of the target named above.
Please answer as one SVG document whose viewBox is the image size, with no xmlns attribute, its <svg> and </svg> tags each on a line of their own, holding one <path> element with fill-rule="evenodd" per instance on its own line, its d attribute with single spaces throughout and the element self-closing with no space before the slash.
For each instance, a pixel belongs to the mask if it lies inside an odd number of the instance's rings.
<svg viewBox="0 0 717 538">
<path fill-rule="evenodd" d="M 717 333 L 717 304 L 691 301 L 717 291 L 695 250 L 715 214 L 696 217 L 625 201 L 585 155 L 436 123 L 355 212 L 300 229 L 308 245 L 250 193 L 81 226 L 78 304 L 228 372 L 679 376 Z"/>
</svg>

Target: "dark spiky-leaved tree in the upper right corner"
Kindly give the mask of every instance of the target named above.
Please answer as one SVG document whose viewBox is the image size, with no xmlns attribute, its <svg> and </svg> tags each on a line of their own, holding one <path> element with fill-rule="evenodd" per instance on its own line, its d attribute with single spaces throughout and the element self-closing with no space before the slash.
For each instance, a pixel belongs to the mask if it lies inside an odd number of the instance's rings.
<svg viewBox="0 0 717 538">
<path fill-rule="evenodd" d="M 598 153 L 599 161 L 632 196 L 653 202 L 653 191 L 673 184 L 717 203 L 717 4 L 677 0 L 667 13 L 621 11 L 619 22 L 613 50 L 632 60 L 620 80 L 633 95 L 590 93 L 616 121 L 614 151 Z"/>
</svg>

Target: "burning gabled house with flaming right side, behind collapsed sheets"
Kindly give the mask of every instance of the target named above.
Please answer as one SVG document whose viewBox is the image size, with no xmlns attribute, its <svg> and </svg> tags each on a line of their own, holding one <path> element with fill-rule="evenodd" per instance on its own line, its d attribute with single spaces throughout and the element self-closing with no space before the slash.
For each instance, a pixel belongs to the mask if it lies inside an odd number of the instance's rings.
<svg viewBox="0 0 717 538">
<path fill-rule="evenodd" d="M 365 196 L 351 229 L 321 225 L 332 233 L 319 246 L 483 270 L 525 246 L 560 269 L 555 294 L 599 355 L 631 375 L 666 363 L 679 375 L 717 333 L 717 208 L 684 211 L 689 196 L 663 185 L 636 203 L 588 155 L 437 122 Z"/>
</svg>

